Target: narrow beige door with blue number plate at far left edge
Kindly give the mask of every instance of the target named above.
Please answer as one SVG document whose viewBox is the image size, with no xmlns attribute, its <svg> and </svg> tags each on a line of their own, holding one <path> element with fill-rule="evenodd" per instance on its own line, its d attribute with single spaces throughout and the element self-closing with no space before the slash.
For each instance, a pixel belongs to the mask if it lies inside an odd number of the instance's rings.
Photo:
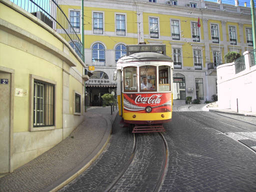
<svg viewBox="0 0 256 192">
<path fill-rule="evenodd" d="M 10 79 L 0 71 L 0 173 L 9 172 Z"/>
</svg>

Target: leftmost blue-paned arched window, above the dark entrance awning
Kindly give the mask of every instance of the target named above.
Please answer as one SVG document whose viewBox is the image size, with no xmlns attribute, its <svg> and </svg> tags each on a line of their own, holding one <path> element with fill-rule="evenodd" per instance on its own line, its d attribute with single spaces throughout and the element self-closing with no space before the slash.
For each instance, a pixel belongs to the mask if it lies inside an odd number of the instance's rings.
<svg viewBox="0 0 256 192">
<path fill-rule="evenodd" d="M 105 48 L 100 43 L 95 43 L 92 46 L 92 65 L 105 65 Z"/>
</svg>

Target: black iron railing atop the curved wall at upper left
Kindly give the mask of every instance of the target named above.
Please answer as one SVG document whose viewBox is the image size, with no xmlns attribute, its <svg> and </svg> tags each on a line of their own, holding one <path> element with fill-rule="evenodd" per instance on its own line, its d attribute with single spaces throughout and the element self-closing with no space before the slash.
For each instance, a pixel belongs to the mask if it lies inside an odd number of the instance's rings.
<svg viewBox="0 0 256 192">
<path fill-rule="evenodd" d="M 59 33 L 82 59 L 82 43 L 63 10 L 54 0 L 10 0 Z M 76 29 L 77 30 L 77 29 Z M 79 45 L 78 45 L 79 44 Z"/>
</svg>

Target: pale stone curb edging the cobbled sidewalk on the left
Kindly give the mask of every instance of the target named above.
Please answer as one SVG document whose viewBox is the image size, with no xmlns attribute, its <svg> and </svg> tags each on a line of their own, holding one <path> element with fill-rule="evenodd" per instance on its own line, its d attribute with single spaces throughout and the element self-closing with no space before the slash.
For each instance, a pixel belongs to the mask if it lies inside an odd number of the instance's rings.
<svg viewBox="0 0 256 192">
<path fill-rule="evenodd" d="M 103 149 L 105 148 L 105 146 L 107 145 L 107 143 L 110 139 L 110 135 L 112 132 L 112 123 L 113 123 L 117 113 L 118 113 L 118 110 L 114 111 L 111 119 L 107 119 L 104 116 L 102 116 L 102 118 L 104 118 L 106 121 L 107 128 L 106 128 L 103 138 L 101 139 L 98 146 L 92 151 L 92 153 L 89 156 L 87 156 L 84 160 L 82 160 L 72 171 L 61 176 L 59 179 L 57 179 L 51 185 L 47 186 L 46 188 L 44 188 L 41 191 L 55 192 L 55 191 L 59 190 L 60 188 L 62 188 L 66 184 L 68 184 L 70 181 L 72 181 L 74 178 L 79 176 L 84 170 L 86 170 L 91 165 L 91 163 L 94 160 L 96 160 L 96 158 L 103 151 Z"/>
</svg>

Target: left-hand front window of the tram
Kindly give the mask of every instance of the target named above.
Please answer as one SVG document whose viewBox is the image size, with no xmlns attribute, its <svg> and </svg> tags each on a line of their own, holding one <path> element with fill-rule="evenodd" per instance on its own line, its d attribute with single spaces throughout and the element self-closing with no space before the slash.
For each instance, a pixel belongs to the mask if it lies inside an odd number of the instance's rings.
<svg viewBox="0 0 256 192">
<path fill-rule="evenodd" d="M 137 91 L 137 67 L 124 68 L 124 91 Z"/>
</svg>

